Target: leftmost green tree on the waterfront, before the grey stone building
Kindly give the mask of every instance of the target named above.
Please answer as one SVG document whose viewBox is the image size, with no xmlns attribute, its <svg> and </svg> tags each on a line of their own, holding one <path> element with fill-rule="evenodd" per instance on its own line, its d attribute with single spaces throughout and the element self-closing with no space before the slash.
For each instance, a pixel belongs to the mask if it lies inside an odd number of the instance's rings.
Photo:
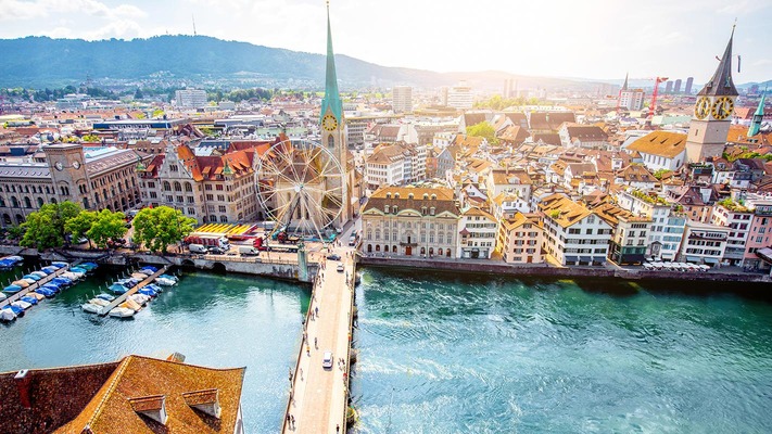
<svg viewBox="0 0 772 434">
<path fill-rule="evenodd" d="M 77 217 L 80 212 L 80 205 L 69 201 L 41 206 L 22 224 L 26 232 L 20 244 L 37 248 L 61 247 L 66 240 L 66 221 Z"/>
</svg>

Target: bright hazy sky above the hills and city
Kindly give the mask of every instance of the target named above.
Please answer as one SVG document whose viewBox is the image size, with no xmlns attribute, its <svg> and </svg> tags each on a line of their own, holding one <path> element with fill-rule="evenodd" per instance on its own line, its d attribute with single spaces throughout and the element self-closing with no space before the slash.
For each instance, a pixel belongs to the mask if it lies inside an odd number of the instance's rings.
<svg viewBox="0 0 772 434">
<path fill-rule="evenodd" d="M 331 0 L 330 15 L 336 53 L 385 66 L 696 82 L 736 18 L 735 82 L 772 79 L 769 0 Z M 0 0 L 0 38 L 191 35 L 193 20 L 198 35 L 326 50 L 325 0 Z"/>
</svg>

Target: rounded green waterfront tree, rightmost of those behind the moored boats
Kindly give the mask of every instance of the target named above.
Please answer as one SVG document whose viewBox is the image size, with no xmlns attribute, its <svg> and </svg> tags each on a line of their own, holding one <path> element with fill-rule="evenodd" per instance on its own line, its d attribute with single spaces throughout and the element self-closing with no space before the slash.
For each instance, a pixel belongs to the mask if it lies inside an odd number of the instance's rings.
<svg viewBox="0 0 772 434">
<path fill-rule="evenodd" d="M 134 241 L 151 252 L 165 253 L 169 244 L 182 241 L 197 221 L 168 206 L 144 208 L 134 218 Z"/>
</svg>

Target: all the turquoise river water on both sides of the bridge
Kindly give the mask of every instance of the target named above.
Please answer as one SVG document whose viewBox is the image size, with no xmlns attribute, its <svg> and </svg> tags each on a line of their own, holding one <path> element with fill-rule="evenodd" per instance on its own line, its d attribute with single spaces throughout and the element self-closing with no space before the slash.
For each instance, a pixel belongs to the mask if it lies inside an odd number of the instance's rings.
<svg viewBox="0 0 772 434">
<path fill-rule="evenodd" d="M 81 312 L 117 272 L 0 326 L 0 371 L 172 352 L 246 366 L 245 427 L 278 432 L 307 286 L 190 272 L 131 320 Z M 353 431 L 772 432 L 769 289 L 682 286 L 365 269 Z"/>
</svg>

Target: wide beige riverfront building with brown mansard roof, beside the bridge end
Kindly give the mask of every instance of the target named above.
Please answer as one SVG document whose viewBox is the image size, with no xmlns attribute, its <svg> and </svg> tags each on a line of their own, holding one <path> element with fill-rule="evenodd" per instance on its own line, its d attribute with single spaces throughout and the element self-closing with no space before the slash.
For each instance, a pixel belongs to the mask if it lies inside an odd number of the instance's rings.
<svg viewBox="0 0 772 434">
<path fill-rule="evenodd" d="M 362 212 L 362 250 L 368 255 L 453 257 L 459 215 L 451 189 L 382 188 Z"/>
</svg>

